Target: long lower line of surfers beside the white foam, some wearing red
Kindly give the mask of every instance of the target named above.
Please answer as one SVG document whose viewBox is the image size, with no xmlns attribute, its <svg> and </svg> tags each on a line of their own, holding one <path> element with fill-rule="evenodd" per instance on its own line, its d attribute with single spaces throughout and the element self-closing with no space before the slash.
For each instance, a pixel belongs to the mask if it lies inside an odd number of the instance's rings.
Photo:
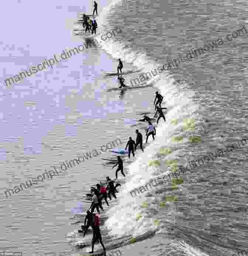
<svg viewBox="0 0 248 256">
<path fill-rule="evenodd" d="M 157 99 L 157 101 L 156 101 L 156 99 Z M 161 94 L 159 94 L 158 92 L 156 92 L 156 97 L 154 100 L 156 113 L 155 113 L 154 117 L 157 114 L 159 114 L 157 124 L 161 117 L 164 119 L 164 121 L 166 121 L 165 116 L 162 112 L 162 108 L 161 108 L 162 100 L 163 100 L 163 96 Z M 156 104 L 155 104 L 155 102 L 156 102 Z M 157 106 L 157 105 L 159 105 L 159 106 Z M 166 109 L 166 108 L 163 108 L 163 109 Z M 150 135 L 152 135 L 153 140 L 155 140 L 154 135 L 156 135 L 156 129 L 151 123 L 151 118 L 144 115 L 143 119 L 141 119 L 139 121 L 147 121 L 149 123 L 147 132 L 146 132 L 147 140 Z M 128 157 L 129 158 L 130 158 L 131 152 L 132 152 L 132 155 L 134 156 L 134 151 L 136 151 L 138 145 L 140 145 L 141 150 L 144 152 L 144 149 L 142 147 L 142 134 L 138 131 L 138 129 L 136 129 L 135 132 L 137 134 L 136 143 L 134 142 L 134 140 L 132 140 L 131 137 L 129 137 L 127 146 L 125 147 L 125 150 L 128 147 Z M 147 143 L 147 140 L 146 140 L 146 143 Z M 123 160 L 121 159 L 120 156 L 117 156 L 117 160 L 118 160 L 117 163 L 114 164 L 114 166 L 112 167 L 112 169 L 113 169 L 114 167 L 116 167 L 118 165 L 117 170 L 116 170 L 116 179 L 118 178 L 119 171 L 121 171 L 121 174 L 125 177 L 125 174 L 123 171 Z M 89 209 L 91 209 L 91 211 L 87 210 L 85 220 L 84 220 L 84 225 L 82 225 L 81 230 L 78 231 L 79 233 L 83 233 L 83 237 L 85 237 L 87 230 L 91 226 L 92 230 L 93 230 L 93 238 L 92 238 L 92 251 L 90 253 L 94 252 L 94 244 L 96 242 L 100 242 L 101 246 L 103 247 L 105 256 L 106 256 L 106 249 L 103 245 L 102 237 L 101 237 L 101 233 L 100 233 L 100 214 L 94 213 L 94 210 L 96 209 L 98 213 L 100 213 L 99 207 L 101 210 L 103 210 L 102 202 L 101 202 L 103 199 L 105 200 L 106 205 L 109 206 L 107 197 L 109 198 L 109 200 L 112 200 L 111 199 L 111 194 L 112 194 L 113 197 L 116 198 L 115 194 L 118 193 L 116 188 L 118 186 L 121 186 L 121 184 L 117 183 L 116 185 L 114 185 L 114 180 L 111 180 L 110 177 L 107 176 L 106 177 L 106 185 L 107 185 L 107 187 L 104 186 L 104 184 L 100 182 L 100 184 L 96 184 L 96 187 L 92 186 L 90 188 L 91 193 L 86 194 L 86 196 L 88 196 L 92 199 L 92 203 L 89 207 Z M 108 192 L 107 192 L 107 190 L 108 190 Z M 92 196 L 92 193 L 93 193 L 93 196 Z"/>
</svg>

